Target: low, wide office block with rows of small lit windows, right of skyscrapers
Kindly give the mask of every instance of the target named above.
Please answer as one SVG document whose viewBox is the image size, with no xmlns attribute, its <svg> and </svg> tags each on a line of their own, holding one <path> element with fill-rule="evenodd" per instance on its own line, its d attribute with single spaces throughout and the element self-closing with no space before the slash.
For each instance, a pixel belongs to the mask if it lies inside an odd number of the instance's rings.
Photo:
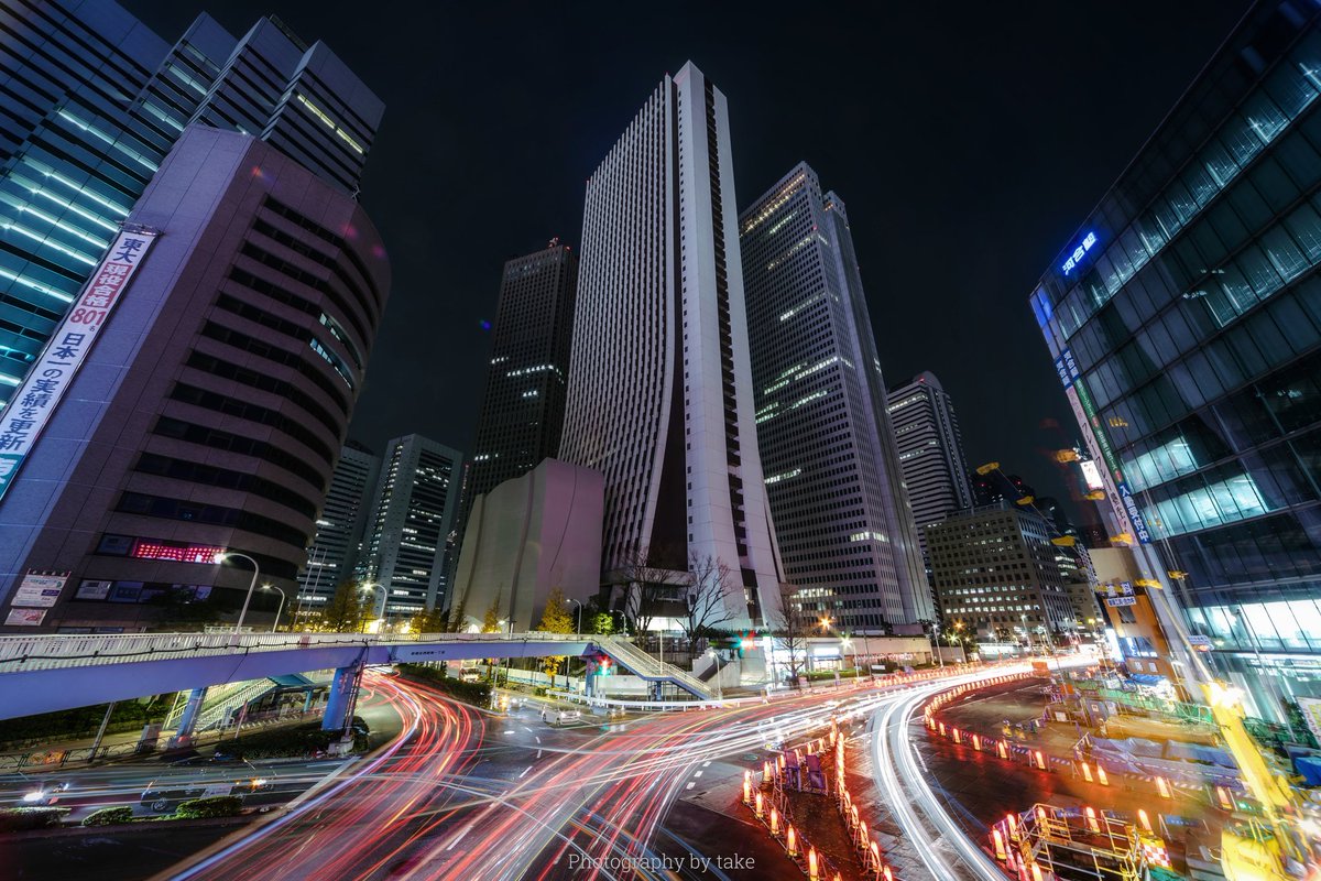
<svg viewBox="0 0 1321 881">
<path fill-rule="evenodd" d="M 1033 643 L 1075 630 L 1053 534 L 1045 518 L 1012 502 L 956 511 L 926 527 L 946 627 Z"/>
</svg>

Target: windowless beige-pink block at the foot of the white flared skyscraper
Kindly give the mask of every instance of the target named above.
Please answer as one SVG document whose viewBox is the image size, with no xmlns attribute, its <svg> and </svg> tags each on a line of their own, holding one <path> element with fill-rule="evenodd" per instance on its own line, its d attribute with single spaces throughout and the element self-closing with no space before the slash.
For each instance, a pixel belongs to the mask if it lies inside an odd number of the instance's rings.
<svg viewBox="0 0 1321 881">
<path fill-rule="evenodd" d="M 453 619 L 481 629 L 494 609 L 511 631 L 527 633 L 559 588 L 577 621 L 598 590 L 604 506 L 600 472 L 556 458 L 478 495 L 458 557 Z"/>
</svg>

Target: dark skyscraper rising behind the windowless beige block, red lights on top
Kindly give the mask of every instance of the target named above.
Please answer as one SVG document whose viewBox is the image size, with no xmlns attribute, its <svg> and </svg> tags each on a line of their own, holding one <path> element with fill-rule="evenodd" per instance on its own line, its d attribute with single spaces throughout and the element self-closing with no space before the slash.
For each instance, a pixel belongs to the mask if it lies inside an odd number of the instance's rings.
<svg viewBox="0 0 1321 881">
<path fill-rule="evenodd" d="M 559 239 L 505 264 L 464 512 L 559 452 L 576 292 L 577 255 Z"/>
</svg>

